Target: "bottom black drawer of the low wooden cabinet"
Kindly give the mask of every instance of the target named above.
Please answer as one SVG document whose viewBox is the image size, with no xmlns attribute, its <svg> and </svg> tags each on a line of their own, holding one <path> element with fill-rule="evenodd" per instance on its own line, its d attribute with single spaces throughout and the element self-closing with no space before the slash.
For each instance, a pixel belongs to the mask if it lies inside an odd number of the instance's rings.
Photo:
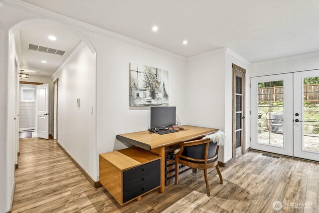
<svg viewBox="0 0 319 213">
<path fill-rule="evenodd" d="M 136 188 L 133 188 L 132 190 L 129 190 L 127 192 L 123 193 L 123 203 L 126 203 L 140 195 L 143 195 L 144 193 L 147 193 L 157 187 L 160 186 L 160 177 L 157 179 L 154 179 L 152 181 L 149 181 L 145 184 L 142 184 Z"/>
</svg>

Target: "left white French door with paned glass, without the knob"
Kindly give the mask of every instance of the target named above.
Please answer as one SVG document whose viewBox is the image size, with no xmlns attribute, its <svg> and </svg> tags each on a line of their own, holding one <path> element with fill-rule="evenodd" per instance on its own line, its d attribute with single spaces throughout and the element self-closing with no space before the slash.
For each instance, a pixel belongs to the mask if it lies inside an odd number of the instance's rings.
<svg viewBox="0 0 319 213">
<path fill-rule="evenodd" d="M 293 156 L 293 74 L 251 78 L 251 148 Z"/>
</svg>

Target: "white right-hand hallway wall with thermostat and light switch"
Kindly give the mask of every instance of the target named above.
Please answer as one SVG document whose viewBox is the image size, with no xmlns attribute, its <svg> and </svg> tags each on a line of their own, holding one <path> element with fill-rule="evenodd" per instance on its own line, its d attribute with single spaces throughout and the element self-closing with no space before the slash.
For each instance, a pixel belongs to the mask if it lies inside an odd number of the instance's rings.
<svg viewBox="0 0 319 213">
<path fill-rule="evenodd" d="M 72 58 L 52 77 L 51 84 L 59 78 L 58 142 L 97 180 L 95 64 L 95 54 L 81 43 Z"/>
</svg>

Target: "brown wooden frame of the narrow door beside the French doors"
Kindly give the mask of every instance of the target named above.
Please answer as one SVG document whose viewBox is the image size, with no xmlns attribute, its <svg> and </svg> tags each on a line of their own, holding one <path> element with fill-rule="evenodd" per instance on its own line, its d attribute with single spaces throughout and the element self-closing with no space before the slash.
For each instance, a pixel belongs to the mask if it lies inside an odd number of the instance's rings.
<svg viewBox="0 0 319 213">
<path fill-rule="evenodd" d="M 233 68 L 233 131 L 232 131 L 232 141 L 233 141 L 233 159 L 236 158 L 236 73 L 237 72 L 241 72 L 243 73 L 243 81 L 242 81 L 242 94 L 243 94 L 243 98 L 242 98 L 242 117 L 244 117 L 244 119 L 242 119 L 242 155 L 245 154 L 246 152 L 246 140 L 245 140 L 245 119 L 246 119 L 246 115 L 245 115 L 245 104 L 246 104 L 246 70 L 236 64 L 232 64 L 232 68 Z"/>
</svg>

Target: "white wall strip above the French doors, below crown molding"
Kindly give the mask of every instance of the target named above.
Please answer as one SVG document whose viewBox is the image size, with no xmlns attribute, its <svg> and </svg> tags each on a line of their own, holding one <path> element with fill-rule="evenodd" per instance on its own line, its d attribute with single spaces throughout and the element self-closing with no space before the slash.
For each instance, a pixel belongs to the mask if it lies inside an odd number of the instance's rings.
<svg viewBox="0 0 319 213">
<path fill-rule="evenodd" d="M 253 63 L 251 77 L 319 69 L 319 52 Z"/>
</svg>

